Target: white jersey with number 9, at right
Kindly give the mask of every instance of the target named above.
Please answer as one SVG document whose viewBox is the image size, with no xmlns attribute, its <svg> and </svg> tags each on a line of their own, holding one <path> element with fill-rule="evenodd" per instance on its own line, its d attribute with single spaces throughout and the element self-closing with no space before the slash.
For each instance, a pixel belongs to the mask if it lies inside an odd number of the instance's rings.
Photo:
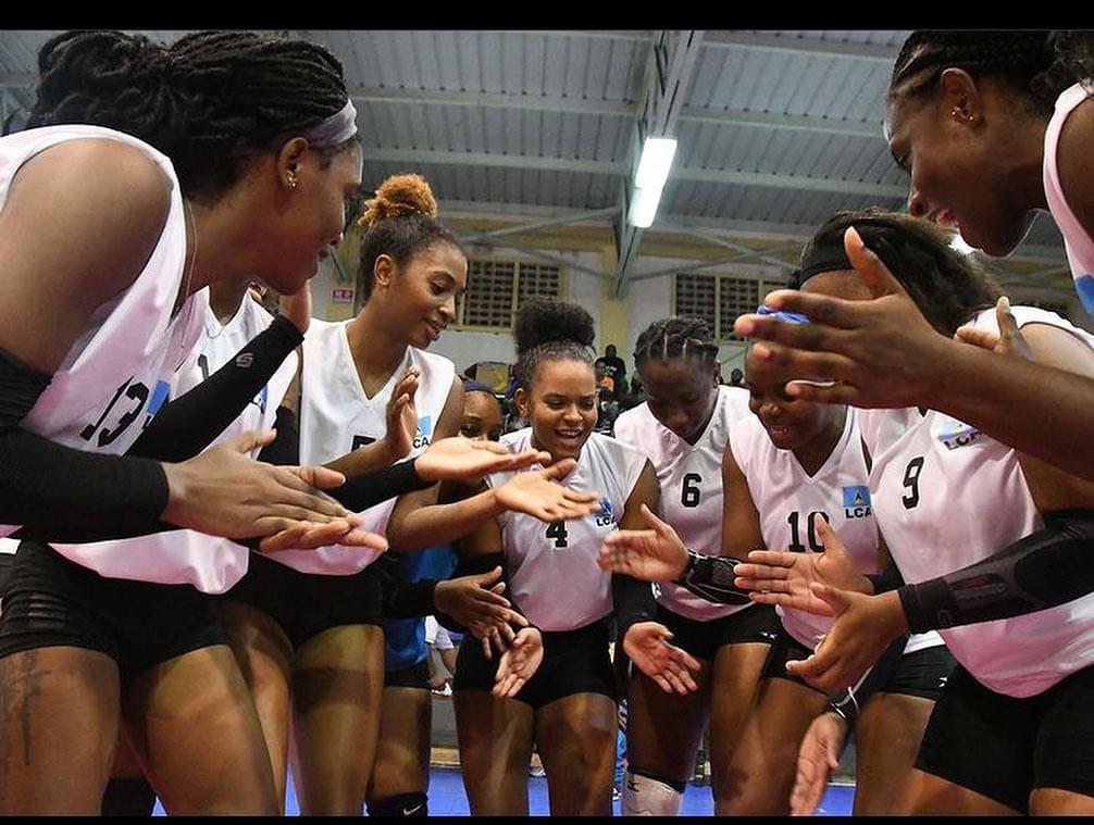
<svg viewBox="0 0 1094 825">
<path fill-rule="evenodd" d="M 1092 342 L 1055 313 L 1012 311 L 1019 326 L 1051 324 Z M 976 326 L 998 332 L 994 310 L 980 313 Z M 934 410 L 871 410 L 863 419 L 877 521 L 905 581 L 959 570 L 1044 526 L 1010 446 Z M 1094 594 L 941 634 L 990 689 L 1035 696 L 1094 663 Z"/>
</svg>

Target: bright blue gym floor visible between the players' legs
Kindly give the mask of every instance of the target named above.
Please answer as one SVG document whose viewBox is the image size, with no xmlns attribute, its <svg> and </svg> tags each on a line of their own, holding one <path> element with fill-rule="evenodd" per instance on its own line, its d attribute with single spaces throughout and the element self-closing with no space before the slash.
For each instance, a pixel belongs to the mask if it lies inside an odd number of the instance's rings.
<svg viewBox="0 0 1094 825">
<path fill-rule="evenodd" d="M 289 816 L 300 814 L 296 794 L 292 782 L 289 782 L 286 813 Z M 854 787 L 846 785 L 829 785 L 828 792 L 821 803 L 819 816 L 850 816 L 851 804 L 854 801 Z M 528 812 L 545 816 L 547 810 L 547 780 L 543 777 L 528 777 Z M 429 813 L 433 816 L 468 816 L 467 795 L 464 793 L 464 782 L 455 768 L 434 767 L 430 774 Z M 615 813 L 619 814 L 619 803 L 615 804 Z M 710 798 L 709 786 L 691 786 L 684 793 L 682 816 L 712 816 L 714 803 Z M 156 816 L 163 816 L 163 807 L 155 803 Z"/>
</svg>

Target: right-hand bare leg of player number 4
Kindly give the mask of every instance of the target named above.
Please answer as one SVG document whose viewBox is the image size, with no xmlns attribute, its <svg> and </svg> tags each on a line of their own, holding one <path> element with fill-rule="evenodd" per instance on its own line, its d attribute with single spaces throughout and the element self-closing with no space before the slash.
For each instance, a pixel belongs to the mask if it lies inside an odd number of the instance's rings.
<svg viewBox="0 0 1094 825">
<path fill-rule="evenodd" d="M 612 815 L 618 732 L 616 704 L 603 694 L 574 694 L 536 711 L 551 816 Z"/>
</svg>

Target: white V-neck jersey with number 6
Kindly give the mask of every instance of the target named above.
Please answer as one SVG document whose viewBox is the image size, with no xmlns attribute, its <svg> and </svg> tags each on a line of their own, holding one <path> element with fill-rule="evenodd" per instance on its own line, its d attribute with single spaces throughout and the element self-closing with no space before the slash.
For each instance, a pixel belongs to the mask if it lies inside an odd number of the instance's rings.
<svg viewBox="0 0 1094 825">
<path fill-rule="evenodd" d="M 695 444 L 687 443 L 654 418 L 648 404 L 620 413 L 616 438 L 653 463 L 661 483 L 662 518 L 688 547 L 718 556 L 722 549 L 722 454 L 736 421 L 750 418 L 748 392 L 720 386 L 714 411 Z M 673 582 L 659 585 L 657 601 L 673 613 L 697 621 L 729 616 L 752 605 L 714 604 Z"/>
</svg>

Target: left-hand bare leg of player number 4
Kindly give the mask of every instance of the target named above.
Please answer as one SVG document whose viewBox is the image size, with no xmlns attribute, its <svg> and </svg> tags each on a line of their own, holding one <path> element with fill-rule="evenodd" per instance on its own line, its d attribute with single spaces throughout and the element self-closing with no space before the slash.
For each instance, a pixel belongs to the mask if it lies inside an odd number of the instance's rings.
<svg viewBox="0 0 1094 825">
<path fill-rule="evenodd" d="M 472 816 L 527 816 L 532 708 L 488 690 L 457 690 L 455 711 Z"/>
</svg>

